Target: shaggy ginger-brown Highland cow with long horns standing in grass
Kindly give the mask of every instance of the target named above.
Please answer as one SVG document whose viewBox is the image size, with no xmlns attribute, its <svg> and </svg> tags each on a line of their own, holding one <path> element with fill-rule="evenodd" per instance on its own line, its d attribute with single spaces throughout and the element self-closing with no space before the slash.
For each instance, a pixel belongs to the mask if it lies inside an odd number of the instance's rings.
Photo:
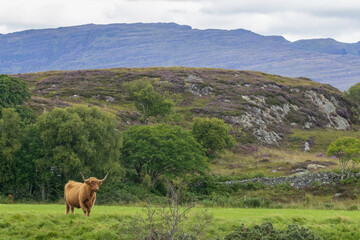
<svg viewBox="0 0 360 240">
<path fill-rule="evenodd" d="M 96 192 L 99 191 L 99 186 L 105 181 L 108 174 L 104 179 L 99 180 L 95 177 L 85 179 L 81 173 L 84 183 L 69 181 L 65 184 L 64 198 L 66 205 L 66 215 L 71 209 L 74 213 L 74 208 L 81 208 L 85 216 L 90 216 L 91 208 L 95 204 Z"/>
</svg>

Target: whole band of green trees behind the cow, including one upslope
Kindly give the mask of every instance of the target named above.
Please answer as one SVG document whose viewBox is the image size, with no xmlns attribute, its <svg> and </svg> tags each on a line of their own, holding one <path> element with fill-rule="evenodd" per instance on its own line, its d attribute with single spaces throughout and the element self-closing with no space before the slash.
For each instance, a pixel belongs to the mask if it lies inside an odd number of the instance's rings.
<svg viewBox="0 0 360 240">
<path fill-rule="evenodd" d="M 164 178 L 204 174 L 216 152 L 234 146 L 231 127 L 215 118 L 195 119 L 192 130 L 146 125 L 150 116 L 170 113 L 179 96 L 160 94 L 147 79 L 127 88 L 143 124 L 120 131 L 114 115 L 97 107 L 35 116 L 23 104 L 31 96 L 26 83 L 0 75 L 0 195 L 56 201 L 79 172 L 156 188 Z"/>
</svg>

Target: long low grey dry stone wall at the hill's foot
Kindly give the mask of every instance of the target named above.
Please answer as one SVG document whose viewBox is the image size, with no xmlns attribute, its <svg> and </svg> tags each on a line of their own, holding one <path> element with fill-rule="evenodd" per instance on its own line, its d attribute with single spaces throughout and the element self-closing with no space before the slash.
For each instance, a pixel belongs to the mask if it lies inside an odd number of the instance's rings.
<svg viewBox="0 0 360 240">
<path fill-rule="evenodd" d="M 226 184 L 236 184 L 236 183 L 247 183 L 247 182 L 260 182 L 264 185 L 279 185 L 284 183 L 289 183 L 291 187 L 294 188 L 306 188 L 312 187 L 315 183 L 319 185 L 325 185 L 330 183 L 337 183 L 341 179 L 341 176 L 332 173 L 332 172 L 323 172 L 323 173 L 309 173 L 309 174 L 301 174 L 301 175 L 294 175 L 289 177 L 277 177 L 277 178 L 270 178 L 270 177 L 263 177 L 263 178 L 253 178 L 253 179 L 246 179 L 242 181 L 227 181 Z"/>
</svg>

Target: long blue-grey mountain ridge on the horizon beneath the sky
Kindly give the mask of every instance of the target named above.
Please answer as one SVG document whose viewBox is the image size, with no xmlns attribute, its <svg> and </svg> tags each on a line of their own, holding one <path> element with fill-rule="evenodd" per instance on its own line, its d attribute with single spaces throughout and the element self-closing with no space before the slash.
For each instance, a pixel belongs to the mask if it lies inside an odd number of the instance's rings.
<svg viewBox="0 0 360 240">
<path fill-rule="evenodd" d="M 360 43 L 290 42 L 251 31 L 175 23 L 109 24 L 0 35 L 0 73 L 187 66 L 309 77 L 341 90 L 360 82 Z"/>
</svg>

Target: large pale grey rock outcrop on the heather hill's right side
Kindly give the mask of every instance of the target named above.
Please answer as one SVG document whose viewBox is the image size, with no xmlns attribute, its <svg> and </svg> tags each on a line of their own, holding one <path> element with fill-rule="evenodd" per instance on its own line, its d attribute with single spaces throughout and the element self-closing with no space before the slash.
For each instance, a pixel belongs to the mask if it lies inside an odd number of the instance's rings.
<svg viewBox="0 0 360 240">
<path fill-rule="evenodd" d="M 280 128 L 301 127 L 310 129 L 312 127 L 327 127 L 346 130 L 350 127 L 349 119 L 337 113 L 337 109 L 344 106 L 341 106 L 334 96 L 327 99 L 322 93 L 317 93 L 314 90 L 301 91 L 299 88 L 293 89 L 291 93 L 302 95 L 303 99 L 299 102 L 295 101 L 295 103 L 286 102 L 272 105 L 271 102 L 268 102 L 269 97 L 242 95 L 242 100 L 247 103 L 245 106 L 248 106 L 246 111 L 241 116 L 225 118 L 231 123 L 249 129 L 259 142 L 264 144 L 278 144 L 279 140 L 282 139 L 280 133 L 284 132 Z M 281 94 L 279 97 L 281 97 Z M 344 108 L 346 109 L 346 107 Z M 305 147 L 305 151 L 308 150 Z"/>
</svg>

